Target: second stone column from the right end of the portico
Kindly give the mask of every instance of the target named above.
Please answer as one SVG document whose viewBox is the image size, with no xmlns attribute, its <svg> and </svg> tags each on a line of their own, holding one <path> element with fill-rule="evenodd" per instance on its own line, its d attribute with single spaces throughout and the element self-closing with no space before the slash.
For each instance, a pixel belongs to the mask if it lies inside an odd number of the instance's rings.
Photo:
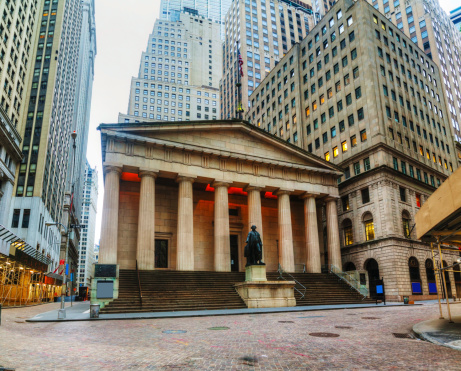
<svg viewBox="0 0 461 371">
<path fill-rule="evenodd" d="M 304 230 L 306 235 L 306 272 L 321 273 L 320 240 L 317 226 L 317 207 L 315 195 L 307 194 L 304 198 Z"/>
</svg>

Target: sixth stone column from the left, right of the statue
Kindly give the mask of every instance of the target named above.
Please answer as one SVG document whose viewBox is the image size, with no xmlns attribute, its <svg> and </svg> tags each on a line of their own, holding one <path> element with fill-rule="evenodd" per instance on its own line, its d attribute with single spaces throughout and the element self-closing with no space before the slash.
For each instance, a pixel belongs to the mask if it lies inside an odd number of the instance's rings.
<svg viewBox="0 0 461 371">
<path fill-rule="evenodd" d="M 291 227 L 290 192 L 279 190 L 277 193 L 279 217 L 279 263 L 286 272 L 295 271 L 293 252 L 293 230 Z"/>
</svg>

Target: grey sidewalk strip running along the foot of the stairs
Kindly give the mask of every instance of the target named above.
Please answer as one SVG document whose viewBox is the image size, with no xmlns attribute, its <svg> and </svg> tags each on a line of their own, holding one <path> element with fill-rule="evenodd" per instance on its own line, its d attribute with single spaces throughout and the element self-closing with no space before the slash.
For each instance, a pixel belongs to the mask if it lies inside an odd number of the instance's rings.
<svg viewBox="0 0 461 371">
<path fill-rule="evenodd" d="M 308 307 L 284 308 L 245 308 L 245 309 L 220 309 L 220 310 L 195 310 L 180 312 L 144 312 L 144 313 L 111 313 L 101 314 L 99 318 L 90 318 L 90 302 L 76 303 L 73 307 L 66 307 L 66 319 L 58 319 L 58 310 L 40 313 L 29 318 L 27 322 L 66 322 L 66 321 L 104 321 L 122 319 L 148 319 L 148 318 L 181 318 L 181 317 L 207 317 L 228 316 L 238 314 L 305 312 L 316 310 L 358 309 L 358 308 L 386 308 L 403 306 L 402 303 L 384 304 L 342 304 L 342 305 L 313 305 Z"/>
</svg>

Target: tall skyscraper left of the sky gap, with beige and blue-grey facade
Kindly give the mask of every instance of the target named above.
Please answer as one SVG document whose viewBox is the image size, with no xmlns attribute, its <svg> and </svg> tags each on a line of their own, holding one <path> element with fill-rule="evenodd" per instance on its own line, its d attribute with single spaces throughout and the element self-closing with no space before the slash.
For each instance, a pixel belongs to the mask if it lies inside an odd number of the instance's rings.
<svg viewBox="0 0 461 371">
<path fill-rule="evenodd" d="M 61 236 L 58 227 L 46 227 L 45 223 L 67 225 L 62 218 L 64 195 L 70 191 L 70 134 L 88 125 L 85 89 L 91 95 L 92 82 L 92 63 L 85 63 L 91 53 L 83 50 L 81 38 L 91 38 L 88 42 L 94 44 L 94 18 L 92 10 L 84 18 L 83 9 L 92 4 L 89 1 L 44 0 L 39 4 L 40 28 L 34 41 L 33 74 L 21 131 L 23 160 L 12 201 L 12 220 L 17 222 L 12 224 L 12 231 L 48 256 L 52 262 L 49 268 L 54 270 L 60 260 Z M 81 85 L 85 77 L 86 88 Z M 84 132 L 82 128 L 77 136 L 76 162 L 79 153 L 86 151 L 81 143 Z M 74 179 L 79 177 L 77 171 Z M 75 210 L 72 213 L 75 215 Z M 71 270 L 76 268 L 78 257 L 78 233 L 75 236 L 69 244 Z"/>
</svg>

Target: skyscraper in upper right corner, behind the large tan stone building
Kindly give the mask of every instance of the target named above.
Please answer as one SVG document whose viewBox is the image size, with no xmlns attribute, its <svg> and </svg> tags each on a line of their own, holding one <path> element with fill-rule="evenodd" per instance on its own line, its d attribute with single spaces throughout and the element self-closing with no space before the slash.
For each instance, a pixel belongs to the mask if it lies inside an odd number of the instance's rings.
<svg viewBox="0 0 461 371">
<path fill-rule="evenodd" d="M 461 141 L 461 33 L 438 0 L 369 0 L 440 69 L 451 131 Z"/>
</svg>

